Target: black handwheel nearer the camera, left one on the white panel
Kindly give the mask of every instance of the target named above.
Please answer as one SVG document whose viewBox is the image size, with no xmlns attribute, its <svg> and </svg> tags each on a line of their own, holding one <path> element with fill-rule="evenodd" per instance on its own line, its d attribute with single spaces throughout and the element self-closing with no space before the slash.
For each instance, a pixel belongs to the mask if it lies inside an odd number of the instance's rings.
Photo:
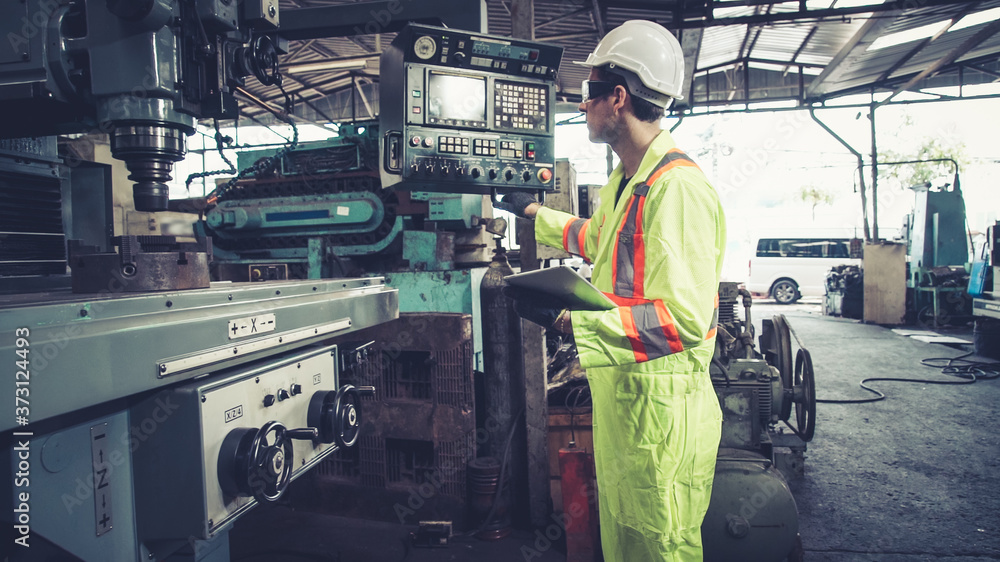
<svg viewBox="0 0 1000 562">
<path fill-rule="evenodd" d="M 276 501 L 291 480 L 292 454 L 291 438 L 280 422 L 270 421 L 260 429 L 241 427 L 230 431 L 219 453 L 223 492 L 228 496 L 253 496 L 261 503 Z"/>
</svg>

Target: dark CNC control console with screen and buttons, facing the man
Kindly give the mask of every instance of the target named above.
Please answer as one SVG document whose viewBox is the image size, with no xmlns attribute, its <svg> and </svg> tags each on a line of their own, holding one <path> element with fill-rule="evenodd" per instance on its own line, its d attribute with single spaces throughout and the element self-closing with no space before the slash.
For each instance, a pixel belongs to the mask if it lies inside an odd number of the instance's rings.
<svg viewBox="0 0 1000 562">
<path fill-rule="evenodd" d="M 555 189 L 562 49 L 411 24 L 382 56 L 382 183 L 493 193 Z"/>
</svg>

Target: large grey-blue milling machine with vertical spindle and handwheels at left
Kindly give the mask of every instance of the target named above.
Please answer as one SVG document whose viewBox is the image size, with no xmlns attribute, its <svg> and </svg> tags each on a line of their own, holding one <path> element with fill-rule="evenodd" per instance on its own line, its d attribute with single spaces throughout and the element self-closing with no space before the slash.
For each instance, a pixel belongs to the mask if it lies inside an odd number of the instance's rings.
<svg viewBox="0 0 1000 562">
<path fill-rule="evenodd" d="M 280 85 L 277 2 L 5 10 L 4 552 L 228 560 L 239 517 L 357 441 L 371 389 L 341 384 L 345 342 L 396 318 L 397 291 L 213 283 L 210 238 L 116 233 L 110 167 L 68 166 L 46 136 L 110 134 L 135 207 L 166 210 L 196 120 L 237 117 L 251 75 Z"/>
</svg>

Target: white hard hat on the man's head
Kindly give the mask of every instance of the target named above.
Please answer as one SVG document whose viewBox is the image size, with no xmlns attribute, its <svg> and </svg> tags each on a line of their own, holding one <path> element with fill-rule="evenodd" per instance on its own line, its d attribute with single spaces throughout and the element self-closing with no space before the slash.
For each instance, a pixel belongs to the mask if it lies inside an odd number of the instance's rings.
<svg viewBox="0 0 1000 562">
<path fill-rule="evenodd" d="M 583 66 L 610 65 L 621 73 L 632 95 L 667 107 L 671 98 L 682 99 L 684 52 L 672 33 L 646 20 L 629 20 L 612 29 L 597 44 Z"/>
</svg>

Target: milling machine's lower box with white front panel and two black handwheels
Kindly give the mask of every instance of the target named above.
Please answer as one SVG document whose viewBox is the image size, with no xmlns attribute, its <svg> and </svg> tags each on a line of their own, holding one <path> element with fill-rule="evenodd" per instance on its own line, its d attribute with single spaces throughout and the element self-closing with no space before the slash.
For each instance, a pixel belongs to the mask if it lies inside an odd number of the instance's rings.
<svg viewBox="0 0 1000 562">
<path fill-rule="evenodd" d="M 210 538 L 257 503 L 276 501 L 329 454 L 353 446 L 360 396 L 368 389 L 339 385 L 340 363 L 337 346 L 311 348 L 176 387 L 134 407 L 133 418 L 152 416 L 163 404 L 178 411 L 153 436 L 158 446 L 136 451 L 137 508 L 158 520 L 149 526 L 156 536 L 143 540 Z M 174 453 L 163 454 L 171 448 Z M 176 474 L 198 478 L 189 489 L 204 495 L 172 500 L 174 492 L 157 483 Z M 171 501 L 171 516 L 157 515 Z"/>
</svg>

